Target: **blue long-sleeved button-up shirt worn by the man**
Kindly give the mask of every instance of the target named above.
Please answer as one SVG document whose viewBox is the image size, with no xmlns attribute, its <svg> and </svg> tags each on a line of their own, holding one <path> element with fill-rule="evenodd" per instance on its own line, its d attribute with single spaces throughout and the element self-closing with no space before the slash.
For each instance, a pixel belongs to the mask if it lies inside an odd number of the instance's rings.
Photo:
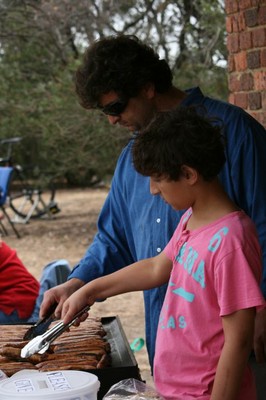
<svg viewBox="0 0 266 400">
<path fill-rule="evenodd" d="M 266 295 L 266 131 L 242 109 L 206 97 L 199 88 L 190 89 L 187 94 L 182 106 L 199 106 L 199 112 L 206 110 L 224 125 L 227 162 L 220 179 L 230 197 L 257 226 L 264 257 L 262 288 Z M 164 249 L 180 220 L 182 212 L 173 210 L 160 196 L 152 196 L 149 178 L 134 170 L 131 143 L 119 157 L 99 216 L 98 233 L 69 279 L 88 282 L 155 256 Z M 166 285 L 144 292 L 146 344 L 151 365 L 165 291 Z"/>
</svg>

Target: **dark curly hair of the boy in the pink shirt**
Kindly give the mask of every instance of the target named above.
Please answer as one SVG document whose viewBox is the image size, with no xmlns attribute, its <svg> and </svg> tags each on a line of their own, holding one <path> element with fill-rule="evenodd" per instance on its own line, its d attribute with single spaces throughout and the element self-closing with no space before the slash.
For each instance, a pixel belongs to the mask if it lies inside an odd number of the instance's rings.
<svg viewBox="0 0 266 400">
<path fill-rule="evenodd" d="M 132 155 L 135 169 L 144 176 L 177 181 L 187 165 L 211 181 L 225 163 L 222 127 L 195 108 L 158 113 L 135 137 Z"/>
</svg>

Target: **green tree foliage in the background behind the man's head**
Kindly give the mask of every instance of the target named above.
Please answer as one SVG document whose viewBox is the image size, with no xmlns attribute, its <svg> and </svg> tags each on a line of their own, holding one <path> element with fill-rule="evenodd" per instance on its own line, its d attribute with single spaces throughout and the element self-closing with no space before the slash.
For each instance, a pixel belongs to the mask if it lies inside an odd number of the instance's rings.
<svg viewBox="0 0 266 400">
<path fill-rule="evenodd" d="M 215 62 L 226 58 L 224 25 L 219 0 L 0 0 L 0 136 L 23 137 L 15 160 L 29 170 L 76 185 L 111 176 L 129 133 L 78 104 L 84 46 L 136 34 L 170 62 L 176 86 L 226 100 L 226 69 Z"/>
</svg>

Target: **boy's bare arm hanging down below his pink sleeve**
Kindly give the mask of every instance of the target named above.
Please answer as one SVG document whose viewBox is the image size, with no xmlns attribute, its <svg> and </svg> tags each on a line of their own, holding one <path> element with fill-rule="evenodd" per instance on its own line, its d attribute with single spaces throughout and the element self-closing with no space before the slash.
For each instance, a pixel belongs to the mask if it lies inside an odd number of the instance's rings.
<svg viewBox="0 0 266 400">
<path fill-rule="evenodd" d="M 218 362 L 211 400 L 235 400 L 252 348 L 255 308 L 222 317 L 224 346 Z"/>
</svg>

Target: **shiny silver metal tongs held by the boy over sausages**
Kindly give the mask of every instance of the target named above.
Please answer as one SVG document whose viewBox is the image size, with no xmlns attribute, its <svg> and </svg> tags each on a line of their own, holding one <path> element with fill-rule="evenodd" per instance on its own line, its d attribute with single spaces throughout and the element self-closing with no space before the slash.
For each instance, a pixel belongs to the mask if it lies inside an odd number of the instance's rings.
<svg viewBox="0 0 266 400">
<path fill-rule="evenodd" d="M 49 349 L 50 344 L 58 336 L 60 336 L 63 332 L 65 332 L 68 328 L 70 328 L 70 326 L 74 325 L 77 319 L 82 314 L 89 311 L 89 309 L 90 309 L 89 306 L 84 307 L 73 317 L 73 319 L 68 324 L 64 324 L 63 321 L 60 321 L 52 328 L 48 329 L 48 331 L 45 332 L 44 334 L 38 335 L 32 340 L 30 340 L 29 343 L 27 343 L 26 346 L 24 346 L 21 349 L 20 356 L 22 358 L 27 358 L 35 353 L 44 354 Z"/>
</svg>

